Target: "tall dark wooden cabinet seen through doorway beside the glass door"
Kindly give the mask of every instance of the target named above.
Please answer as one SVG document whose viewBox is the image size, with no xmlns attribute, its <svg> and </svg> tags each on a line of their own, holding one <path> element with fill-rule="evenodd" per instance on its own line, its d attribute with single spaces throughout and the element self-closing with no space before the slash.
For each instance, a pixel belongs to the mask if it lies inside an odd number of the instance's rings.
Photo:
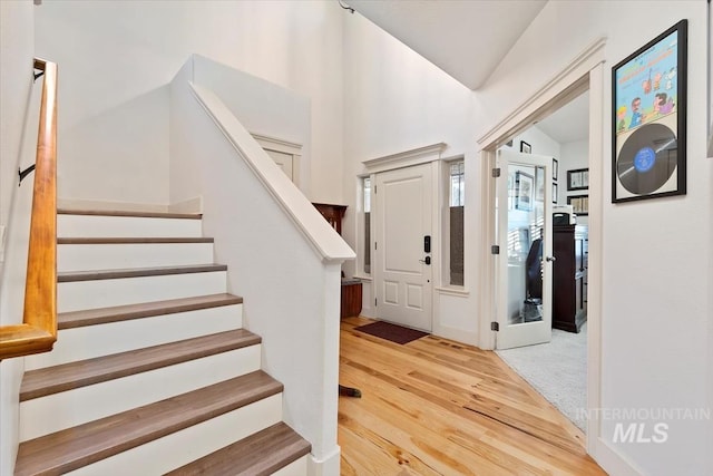
<svg viewBox="0 0 713 476">
<path fill-rule="evenodd" d="M 587 320 L 587 229 L 553 226 L 553 328 L 579 332 Z"/>
</svg>

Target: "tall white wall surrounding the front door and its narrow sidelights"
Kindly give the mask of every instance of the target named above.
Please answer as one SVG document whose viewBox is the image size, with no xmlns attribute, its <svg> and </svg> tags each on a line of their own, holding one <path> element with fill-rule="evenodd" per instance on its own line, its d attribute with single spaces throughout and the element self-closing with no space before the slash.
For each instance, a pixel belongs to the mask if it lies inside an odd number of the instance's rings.
<svg viewBox="0 0 713 476">
<path fill-rule="evenodd" d="M 477 193 L 479 164 L 473 159 L 472 93 L 361 14 L 344 19 L 344 196 L 349 205 L 342 233 L 356 249 L 356 212 L 363 161 L 446 143 L 443 157 L 465 155 L 465 255 L 472 260 L 479 233 Z M 372 230 L 373 233 L 373 230 Z M 434 240 L 438 240 L 434 236 Z M 437 249 L 438 243 L 433 244 Z M 345 266 L 346 275 L 355 271 Z M 434 293 L 433 332 L 477 342 L 478 274 L 466 266 L 467 295 Z M 440 284 L 440 283 L 439 283 Z M 368 286 L 369 283 L 364 283 Z M 373 297 L 371 288 L 364 295 Z M 373 299 L 373 298 L 370 298 Z M 365 309 L 365 312 L 373 310 Z"/>
</svg>

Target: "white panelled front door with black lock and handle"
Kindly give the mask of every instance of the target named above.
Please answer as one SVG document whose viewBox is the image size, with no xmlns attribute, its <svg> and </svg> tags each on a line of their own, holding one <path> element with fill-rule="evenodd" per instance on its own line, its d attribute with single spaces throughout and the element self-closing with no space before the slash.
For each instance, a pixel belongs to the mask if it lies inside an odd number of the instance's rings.
<svg viewBox="0 0 713 476">
<path fill-rule="evenodd" d="M 430 332 L 432 263 L 426 236 L 431 240 L 431 165 L 380 173 L 375 185 L 377 317 Z"/>
</svg>

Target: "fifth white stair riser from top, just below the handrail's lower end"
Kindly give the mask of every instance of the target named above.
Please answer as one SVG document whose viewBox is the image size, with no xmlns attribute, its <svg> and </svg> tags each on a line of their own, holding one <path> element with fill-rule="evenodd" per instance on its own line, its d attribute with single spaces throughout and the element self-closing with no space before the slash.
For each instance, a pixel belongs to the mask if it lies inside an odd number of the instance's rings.
<svg viewBox="0 0 713 476">
<path fill-rule="evenodd" d="M 59 431 L 260 369 L 251 346 L 20 404 L 20 440 Z"/>
</svg>

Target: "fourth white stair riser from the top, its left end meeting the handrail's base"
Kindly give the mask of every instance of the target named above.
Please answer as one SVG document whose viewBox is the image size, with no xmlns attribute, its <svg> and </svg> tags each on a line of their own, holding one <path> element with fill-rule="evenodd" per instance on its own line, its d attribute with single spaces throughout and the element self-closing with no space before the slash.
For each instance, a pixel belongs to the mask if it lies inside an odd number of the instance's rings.
<svg viewBox="0 0 713 476">
<path fill-rule="evenodd" d="M 59 331 L 52 351 L 27 357 L 25 369 L 41 369 L 242 327 L 243 304 L 233 304 L 65 329 Z"/>
</svg>

